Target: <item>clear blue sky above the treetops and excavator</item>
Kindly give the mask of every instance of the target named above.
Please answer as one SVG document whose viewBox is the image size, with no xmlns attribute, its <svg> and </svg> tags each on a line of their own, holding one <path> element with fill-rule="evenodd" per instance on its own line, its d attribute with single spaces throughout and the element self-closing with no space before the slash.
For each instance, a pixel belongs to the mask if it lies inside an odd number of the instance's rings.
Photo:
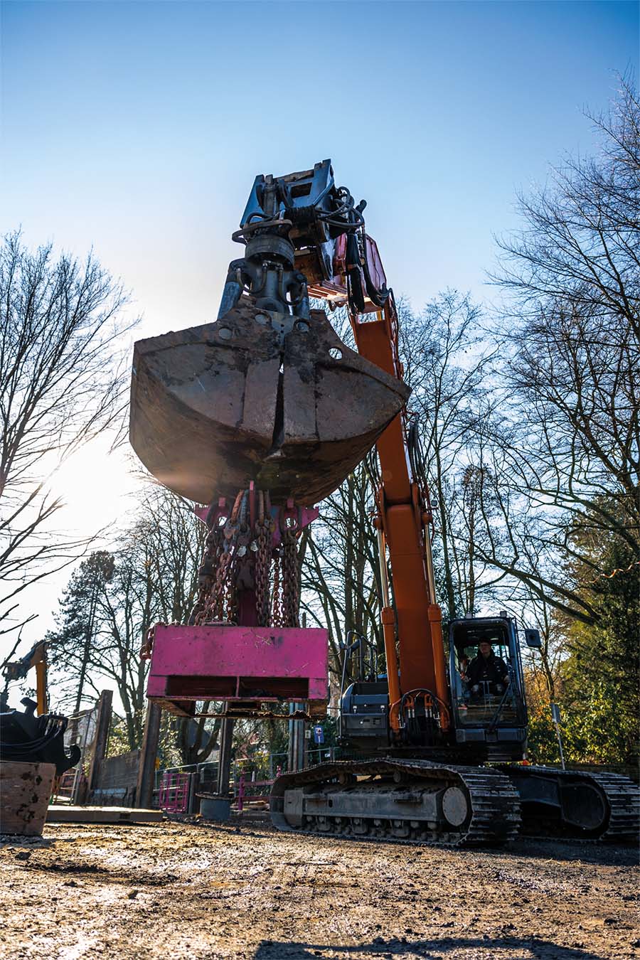
<svg viewBox="0 0 640 960">
<path fill-rule="evenodd" d="M 490 299 L 515 191 L 596 143 L 637 71 L 635 2 L 5 2 L 0 230 L 90 247 L 140 334 L 215 317 L 258 173 L 332 157 L 367 199 L 396 295 Z M 84 451 L 59 478 L 69 525 L 130 505 L 127 467 Z M 50 624 L 67 573 L 25 612 Z M 26 641 L 32 636 L 27 636 Z"/>
</svg>

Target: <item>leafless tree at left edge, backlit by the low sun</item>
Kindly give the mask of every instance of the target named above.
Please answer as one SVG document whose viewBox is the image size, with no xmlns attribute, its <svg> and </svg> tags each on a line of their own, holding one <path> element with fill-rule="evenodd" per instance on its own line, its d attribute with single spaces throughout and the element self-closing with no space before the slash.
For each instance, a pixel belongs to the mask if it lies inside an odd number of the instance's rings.
<svg viewBox="0 0 640 960">
<path fill-rule="evenodd" d="M 127 298 L 90 253 L 0 249 L 0 624 L 19 628 L 19 594 L 76 560 L 85 541 L 55 534 L 55 469 L 121 420 L 118 344 Z M 130 325 L 130 324 L 129 324 Z"/>
</svg>

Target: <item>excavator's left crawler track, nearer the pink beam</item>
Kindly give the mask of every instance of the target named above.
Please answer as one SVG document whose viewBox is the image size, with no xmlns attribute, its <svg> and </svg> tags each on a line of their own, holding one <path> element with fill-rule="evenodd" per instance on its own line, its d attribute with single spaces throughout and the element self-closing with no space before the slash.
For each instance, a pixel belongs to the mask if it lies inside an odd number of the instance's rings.
<svg viewBox="0 0 640 960">
<path fill-rule="evenodd" d="M 447 847 L 501 846 L 520 824 L 500 771 L 391 757 L 283 774 L 271 810 L 281 830 Z"/>
</svg>

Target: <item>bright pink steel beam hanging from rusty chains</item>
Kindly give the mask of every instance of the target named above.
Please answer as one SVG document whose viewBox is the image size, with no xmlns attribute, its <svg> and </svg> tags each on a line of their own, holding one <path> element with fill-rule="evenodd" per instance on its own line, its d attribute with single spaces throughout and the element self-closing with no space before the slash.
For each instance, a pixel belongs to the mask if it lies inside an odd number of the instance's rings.
<svg viewBox="0 0 640 960">
<path fill-rule="evenodd" d="M 325 702 L 328 634 L 319 628 L 154 627 L 151 700 Z"/>
</svg>

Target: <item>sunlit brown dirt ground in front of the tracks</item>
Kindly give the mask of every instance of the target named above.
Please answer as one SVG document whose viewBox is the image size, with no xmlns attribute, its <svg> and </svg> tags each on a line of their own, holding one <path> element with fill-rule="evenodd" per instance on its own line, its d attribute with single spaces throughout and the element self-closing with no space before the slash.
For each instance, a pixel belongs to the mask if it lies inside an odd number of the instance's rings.
<svg viewBox="0 0 640 960">
<path fill-rule="evenodd" d="M 0 844 L 0 956 L 640 957 L 629 848 L 447 851 L 165 822 Z"/>
</svg>

